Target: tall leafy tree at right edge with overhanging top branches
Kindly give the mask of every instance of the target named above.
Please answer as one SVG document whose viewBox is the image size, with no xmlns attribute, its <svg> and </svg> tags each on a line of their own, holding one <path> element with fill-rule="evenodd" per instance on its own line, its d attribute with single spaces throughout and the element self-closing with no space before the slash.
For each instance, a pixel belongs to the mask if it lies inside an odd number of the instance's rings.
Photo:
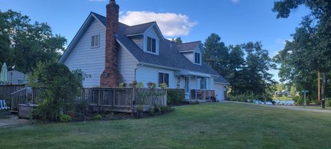
<svg viewBox="0 0 331 149">
<path fill-rule="evenodd" d="M 317 73 L 322 74 L 321 98 L 325 97 L 326 83 L 331 69 L 331 2 L 329 0 L 275 1 L 277 18 L 287 18 L 292 10 L 306 6 L 311 13 L 303 17 L 301 26 L 275 59 L 281 63 L 279 76 L 299 88 L 311 89 Z"/>
</svg>

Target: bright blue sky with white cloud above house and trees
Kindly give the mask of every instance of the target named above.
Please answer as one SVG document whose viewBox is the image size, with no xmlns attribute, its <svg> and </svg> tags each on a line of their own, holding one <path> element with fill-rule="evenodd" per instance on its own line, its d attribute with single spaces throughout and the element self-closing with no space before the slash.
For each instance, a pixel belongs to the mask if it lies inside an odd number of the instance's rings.
<svg viewBox="0 0 331 149">
<path fill-rule="evenodd" d="M 108 0 L 0 0 L 0 10 L 12 9 L 32 21 L 47 22 L 54 34 L 74 37 L 88 14 L 106 14 Z M 276 19 L 274 0 L 117 0 L 121 21 L 129 24 L 157 20 L 166 38 L 205 41 L 212 33 L 226 45 L 261 41 L 273 57 L 292 39 L 306 8 L 292 12 L 288 19 Z M 144 18 L 143 18 L 144 17 Z M 143 19 L 137 19 L 143 18 Z M 174 26 L 173 28 L 167 28 Z M 166 32 L 166 33 L 165 33 Z M 272 71 L 278 80 L 277 71 Z"/>
</svg>

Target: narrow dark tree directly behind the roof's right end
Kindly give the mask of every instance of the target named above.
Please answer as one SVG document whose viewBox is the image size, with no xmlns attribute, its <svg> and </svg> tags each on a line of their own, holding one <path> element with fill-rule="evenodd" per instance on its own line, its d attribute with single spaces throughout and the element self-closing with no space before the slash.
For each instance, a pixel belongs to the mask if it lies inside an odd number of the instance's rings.
<svg viewBox="0 0 331 149">
<path fill-rule="evenodd" d="M 205 39 L 204 43 L 205 54 L 203 54 L 203 61 L 205 61 L 214 70 L 219 72 L 223 77 L 228 78 L 228 63 L 229 50 L 218 34 L 212 33 Z"/>
</svg>

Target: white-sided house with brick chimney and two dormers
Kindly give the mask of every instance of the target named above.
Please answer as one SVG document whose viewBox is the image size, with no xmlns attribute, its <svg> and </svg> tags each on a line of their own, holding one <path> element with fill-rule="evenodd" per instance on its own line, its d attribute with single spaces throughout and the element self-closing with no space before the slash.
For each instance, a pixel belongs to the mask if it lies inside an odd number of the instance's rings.
<svg viewBox="0 0 331 149">
<path fill-rule="evenodd" d="M 202 61 L 204 53 L 201 41 L 174 43 L 165 39 L 156 22 L 137 26 L 119 23 L 119 6 L 111 0 L 106 17 L 89 14 L 59 62 L 70 70 L 90 74 L 83 81 L 86 88 L 132 81 L 145 86 L 166 83 L 168 88 L 184 88 L 188 99 L 212 90 L 207 96 L 223 100 L 229 83 Z"/>
</svg>

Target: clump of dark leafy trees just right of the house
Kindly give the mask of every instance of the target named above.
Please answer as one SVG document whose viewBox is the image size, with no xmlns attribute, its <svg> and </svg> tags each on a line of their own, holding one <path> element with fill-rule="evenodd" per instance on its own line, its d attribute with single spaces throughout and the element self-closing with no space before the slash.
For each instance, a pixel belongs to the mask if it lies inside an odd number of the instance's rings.
<svg viewBox="0 0 331 149">
<path fill-rule="evenodd" d="M 232 95 L 262 95 L 274 85 L 268 71 L 275 66 L 261 42 L 225 46 L 213 33 L 205 40 L 204 48 L 203 60 L 228 79 Z"/>
</svg>

